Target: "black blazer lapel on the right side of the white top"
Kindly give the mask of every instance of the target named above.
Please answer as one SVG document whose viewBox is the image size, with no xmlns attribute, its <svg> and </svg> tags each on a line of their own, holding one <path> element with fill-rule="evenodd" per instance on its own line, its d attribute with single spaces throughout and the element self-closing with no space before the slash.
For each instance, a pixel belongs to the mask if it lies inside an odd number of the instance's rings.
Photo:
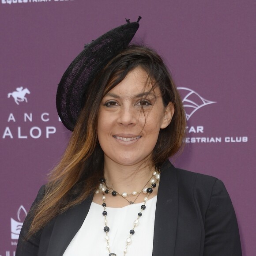
<svg viewBox="0 0 256 256">
<path fill-rule="evenodd" d="M 154 221 L 153 256 L 173 256 L 178 219 L 178 184 L 174 166 L 166 161 L 161 168 Z"/>
</svg>

